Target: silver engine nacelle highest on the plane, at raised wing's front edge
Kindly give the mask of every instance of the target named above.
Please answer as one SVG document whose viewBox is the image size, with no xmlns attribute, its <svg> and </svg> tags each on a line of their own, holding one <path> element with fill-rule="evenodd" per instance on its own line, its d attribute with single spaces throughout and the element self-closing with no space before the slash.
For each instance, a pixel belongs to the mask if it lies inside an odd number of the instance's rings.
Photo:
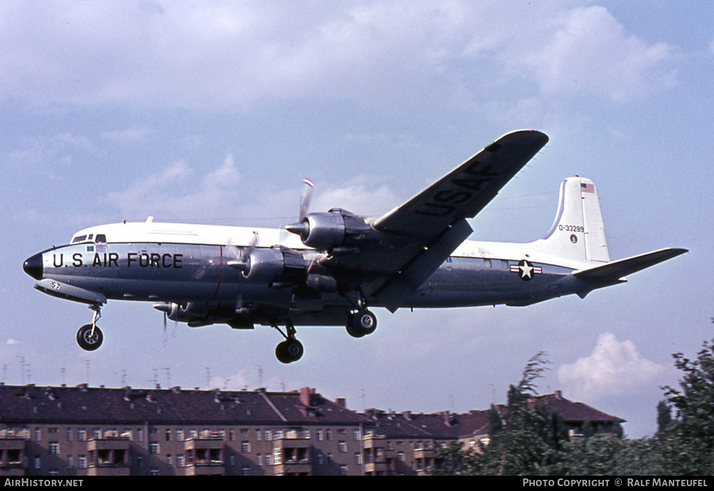
<svg viewBox="0 0 714 491">
<path fill-rule="evenodd" d="M 332 250 L 338 247 L 360 246 L 382 239 L 382 234 L 369 226 L 368 219 L 340 208 L 328 213 L 310 213 L 301 223 L 286 226 L 300 236 L 308 247 Z"/>
</svg>

